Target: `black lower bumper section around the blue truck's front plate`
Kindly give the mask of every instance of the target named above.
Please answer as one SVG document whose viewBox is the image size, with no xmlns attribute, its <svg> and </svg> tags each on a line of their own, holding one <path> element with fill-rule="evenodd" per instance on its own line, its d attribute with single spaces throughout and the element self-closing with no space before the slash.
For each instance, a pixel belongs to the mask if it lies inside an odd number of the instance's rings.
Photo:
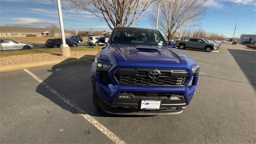
<svg viewBox="0 0 256 144">
<path fill-rule="evenodd" d="M 121 115 L 172 115 L 180 114 L 186 108 L 186 102 L 182 95 L 176 95 L 180 97 L 180 100 L 170 100 L 165 96 L 135 96 L 130 93 L 131 98 L 121 98 L 120 96 L 123 94 L 120 93 L 111 104 L 106 104 L 100 99 L 98 101 L 100 108 L 106 113 Z M 141 100 L 160 100 L 162 104 L 159 110 L 145 110 L 140 109 Z"/>
</svg>

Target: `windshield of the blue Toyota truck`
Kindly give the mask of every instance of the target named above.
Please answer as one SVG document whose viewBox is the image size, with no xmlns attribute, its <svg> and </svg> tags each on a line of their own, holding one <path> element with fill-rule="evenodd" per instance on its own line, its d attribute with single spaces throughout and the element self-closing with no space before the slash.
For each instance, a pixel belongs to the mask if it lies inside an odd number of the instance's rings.
<svg viewBox="0 0 256 144">
<path fill-rule="evenodd" d="M 116 29 L 111 38 L 111 43 L 166 46 L 164 39 L 158 31 L 138 28 Z"/>
</svg>

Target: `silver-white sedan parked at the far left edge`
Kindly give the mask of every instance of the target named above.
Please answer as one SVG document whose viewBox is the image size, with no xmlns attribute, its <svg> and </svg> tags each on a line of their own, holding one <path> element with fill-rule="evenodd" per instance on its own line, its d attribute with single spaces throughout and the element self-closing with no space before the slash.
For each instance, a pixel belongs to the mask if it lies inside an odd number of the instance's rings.
<svg viewBox="0 0 256 144">
<path fill-rule="evenodd" d="M 0 50 L 28 50 L 34 48 L 33 44 L 18 42 L 8 38 L 0 38 Z"/>
</svg>

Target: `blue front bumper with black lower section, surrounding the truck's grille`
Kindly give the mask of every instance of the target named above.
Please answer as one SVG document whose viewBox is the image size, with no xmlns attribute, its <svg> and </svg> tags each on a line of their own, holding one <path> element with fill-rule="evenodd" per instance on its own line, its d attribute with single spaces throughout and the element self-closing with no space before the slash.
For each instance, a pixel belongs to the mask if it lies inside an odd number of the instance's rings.
<svg viewBox="0 0 256 144">
<path fill-rule="evenodd" d="M 125 67 L 125 66 L 124 66 Z M 146 68 L 150 66 L 145 65 Z M 109 70 L 108 76 L 112 81 L 111 84 L 102 84 L 100 82 L 100 72 L 96 72 L 94 64 L 92 65 L 92 84 L 94 92 L 98 95 L 99 106 L 107 113 L 110 114 L 125 114 L 125 115 L 170 115 L 180 114 L 184 108 L 190 103 L 196 90 L 198 75 L 193 76 L 192 86 L 188 86 L 192 77 L 186 82 L 184 86 L 142 86 L 142 85 L 127 85 L 117 84 L 116 80 L 112 77 L 115 71 L 115 65 Z M 189 71 L 192 76 L 191 71 Z M 120 94 L 123 92 L 146 93 L 145 96 L 132 96 L 130 99 L 120 99 Z M 178 94 L 182 100 L 175 101 L 166 97 L 159 97 L 154 94 L 168 93 Z M 152 95 L 153 94 L 153 95 Z M 160 100 L 160 110 L 141 110 L 141 100 Z"/>
</svg>

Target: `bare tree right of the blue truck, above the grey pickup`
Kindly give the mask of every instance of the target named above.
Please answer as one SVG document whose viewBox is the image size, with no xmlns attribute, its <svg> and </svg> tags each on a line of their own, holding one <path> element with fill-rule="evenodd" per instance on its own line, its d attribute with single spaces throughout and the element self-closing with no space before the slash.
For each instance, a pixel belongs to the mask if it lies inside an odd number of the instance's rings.
<svg viewBox="0 0 256 144">
<path fill-rule="evenodd" d="M 170 40 L 182 24 L 191 23 L 202 18 L 206 11 L 206 0 L 162 0 L 160 2 L 158 28 Z M 152 4 L 154 14 L 157 14 L 157 4 Z M 152 24 L 156 24 L 156 16 L 150 16 Z"/>
</svg>

